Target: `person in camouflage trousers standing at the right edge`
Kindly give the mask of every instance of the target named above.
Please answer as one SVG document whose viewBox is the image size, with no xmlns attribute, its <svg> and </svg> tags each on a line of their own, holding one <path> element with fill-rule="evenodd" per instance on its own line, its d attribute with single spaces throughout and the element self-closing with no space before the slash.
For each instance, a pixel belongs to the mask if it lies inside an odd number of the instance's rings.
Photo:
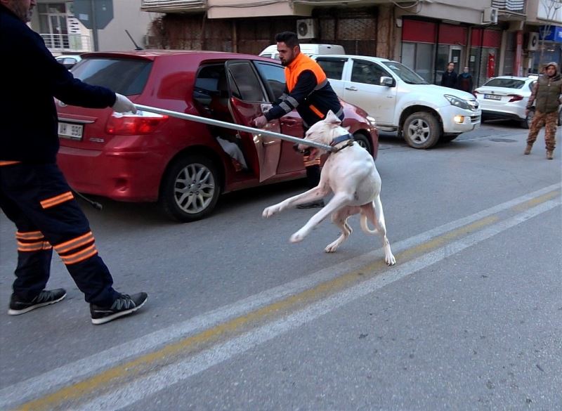
<svg viewBox="0 0 562 411">
<path fill-rule="evenodd" d="M 535 117 L 532 118 L 527 138 L 527 147 L 524 154 L 530 154 L 532 144 L 537 140 L 537 135 L 544 129 L 544 143 L 547 147 L 547 159 L 554 159 L 554 148 L 556 147 L 556 126 L 558 124 L 558 109 L 561 105 L 562 78 L 558 73 L 558 65 L 548 63 L 542 75 L 539 77 L 527 103 L 525 115 L 529 114 L 532 104 L 535 103 Z"/>
</svg>

